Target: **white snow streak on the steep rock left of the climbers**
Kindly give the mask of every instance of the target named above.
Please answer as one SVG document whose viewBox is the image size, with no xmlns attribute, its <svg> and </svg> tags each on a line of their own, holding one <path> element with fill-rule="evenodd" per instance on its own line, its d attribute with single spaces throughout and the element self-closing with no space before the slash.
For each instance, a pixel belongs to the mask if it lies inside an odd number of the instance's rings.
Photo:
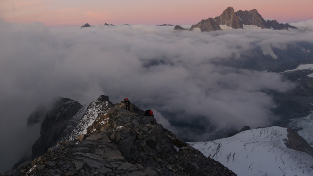
<svg viewBox="0 0 313 176">
<path fill-rule="evenodd" d="M 87 128 L 94 123 L 100 115 L 105 115 L 112 105 L 108 101 L 93 101 L 89 104 L 83 117 L 77 126 L 65 137 L 65 140 L 71 141 L 77 138 L 78 134 L 87 134 Z"/>
</svg>

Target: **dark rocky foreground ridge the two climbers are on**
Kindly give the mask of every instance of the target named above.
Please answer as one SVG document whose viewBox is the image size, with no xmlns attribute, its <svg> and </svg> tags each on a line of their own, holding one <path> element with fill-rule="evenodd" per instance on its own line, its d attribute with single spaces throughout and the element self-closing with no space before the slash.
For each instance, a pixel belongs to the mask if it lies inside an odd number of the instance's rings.
<svg viewBox="0 0 313 176">
<path fill-rule="evenodd" d="M 104 104 L 111 104 L 107 102 L 108 96 L 100 96 L 89 106 L 102 103 L 99 107 L 107 109 Z M 176 138 L 155 118 L 144 117 L 133 104 L 130 111 L 124 108 L 124 103 L 115 104 L 98 114 L 87 134 L 63 140 L 1 176 L 236 176 Z"/>
</svg>

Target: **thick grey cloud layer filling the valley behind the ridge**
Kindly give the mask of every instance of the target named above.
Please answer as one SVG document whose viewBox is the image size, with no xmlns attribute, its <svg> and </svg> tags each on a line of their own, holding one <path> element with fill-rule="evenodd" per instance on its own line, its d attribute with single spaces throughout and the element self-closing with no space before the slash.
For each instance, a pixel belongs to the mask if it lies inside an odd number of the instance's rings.
<svg viewBox="0 0 313 176">
<path fill-rule="evenodd" d="M 101 94 L 114 103 L 128 97 L 153 109 L 159 122 L 190 141 L 211 140 L 230 128 L 268 126 L 277 118 L 271 113 L 276 105 L 262 90 L 284 92 L 294 85 L 275 73 L 215 66 L 211 60 L 240 59 L 253 45 L 313 41 L 312 32 L 296 30 L 179 32 L 151 25 L 48 29 L 41 23 L 3 21 L 0 34 L 3 153 L 24 152 L 36 140 L 38 136 L 22 135 L 35 130 L 25 129 L 26 119 L 57 96 L 82 104 Z M 3 163 L 18 159 L 1 153 L 1 172 L 10 167 Z"/>
</svg>

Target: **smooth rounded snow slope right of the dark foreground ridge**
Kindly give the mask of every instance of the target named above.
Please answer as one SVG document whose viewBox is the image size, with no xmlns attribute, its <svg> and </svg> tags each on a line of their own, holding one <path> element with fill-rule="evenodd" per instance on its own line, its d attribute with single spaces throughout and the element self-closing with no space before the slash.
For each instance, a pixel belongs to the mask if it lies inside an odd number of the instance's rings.
<svg viewBox="0 0 313 176">
<path fill-rule="evenodd" d="M 289 130 L 277 126 L 252 129 L 229 138 L 190 145 L 238 176 L 313 176 L 313 157 L 287 147 L 299 143 L 290 137 Z"/>
</svg>

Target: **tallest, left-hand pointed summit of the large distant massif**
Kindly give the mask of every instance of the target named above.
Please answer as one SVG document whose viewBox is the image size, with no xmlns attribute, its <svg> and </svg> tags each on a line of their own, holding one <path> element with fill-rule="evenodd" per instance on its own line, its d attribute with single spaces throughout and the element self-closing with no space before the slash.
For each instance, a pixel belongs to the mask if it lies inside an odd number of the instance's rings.
<svg viewBox="0 0 313 176">
<path fill-rule="evenodd" d="M 222 15 L 215 17 L 214 20 L 219 25 L 227 25 L 228 27 L 234 29 L 242 29 L 242 22 L 240 21 L 239 17 L 236 15 L 233 7 L 228 7 Z"/>
</svg>

